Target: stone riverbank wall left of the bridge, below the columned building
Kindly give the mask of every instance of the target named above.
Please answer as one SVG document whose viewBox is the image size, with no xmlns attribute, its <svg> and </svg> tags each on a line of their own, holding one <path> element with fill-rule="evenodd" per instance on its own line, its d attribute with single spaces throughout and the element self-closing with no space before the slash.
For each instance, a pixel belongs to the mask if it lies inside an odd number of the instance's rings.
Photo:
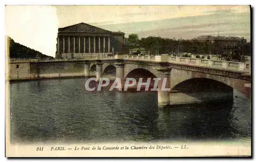
<svg viewBox="0 0 256 162">
<path fill-rule="evenodd" d="M 75 62 L 14 62 L 9 64 L 8 72 L 6 74 L 9 81 L 84 77 L 84 65 Z M 94 76 L 95 71 L 90 71 L 90 75 Z"/>
</svg>

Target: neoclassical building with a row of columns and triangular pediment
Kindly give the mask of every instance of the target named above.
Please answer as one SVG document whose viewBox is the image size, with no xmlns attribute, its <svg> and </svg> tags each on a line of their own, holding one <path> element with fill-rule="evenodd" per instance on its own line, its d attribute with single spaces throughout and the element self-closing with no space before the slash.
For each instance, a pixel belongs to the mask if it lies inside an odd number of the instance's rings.
<svg viewBox="0 0 256 162">
<path fill-rule="evenodd" d="M 82 22 L 58 29 L 56 57 L 82 58 L 122 54 L 123 44 L 123 32 L 111 32 Z"/>
</svg>

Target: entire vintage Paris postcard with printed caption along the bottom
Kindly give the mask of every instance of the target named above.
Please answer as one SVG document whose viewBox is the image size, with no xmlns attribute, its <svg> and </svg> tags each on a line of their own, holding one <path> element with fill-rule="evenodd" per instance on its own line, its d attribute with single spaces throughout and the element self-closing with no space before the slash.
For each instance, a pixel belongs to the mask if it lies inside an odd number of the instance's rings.
<svg viewBox="0 0 256 162">
<path fill-rule="evenodd" d="M 7 5 L 6 156 L 251 156 L 250 12 Z"/>
</svg>

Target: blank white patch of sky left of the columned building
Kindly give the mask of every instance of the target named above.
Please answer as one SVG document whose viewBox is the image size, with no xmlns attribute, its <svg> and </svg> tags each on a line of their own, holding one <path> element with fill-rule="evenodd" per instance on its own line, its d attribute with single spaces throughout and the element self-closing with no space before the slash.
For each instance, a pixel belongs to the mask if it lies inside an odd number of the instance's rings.
<svg viewBox="0 0 256 162">
<path fill-rule="evenodd" d="M 51 6 L 6 6 L 6 35 L 15 42 L 55 57 L 58 17 Z"/>
</svg>

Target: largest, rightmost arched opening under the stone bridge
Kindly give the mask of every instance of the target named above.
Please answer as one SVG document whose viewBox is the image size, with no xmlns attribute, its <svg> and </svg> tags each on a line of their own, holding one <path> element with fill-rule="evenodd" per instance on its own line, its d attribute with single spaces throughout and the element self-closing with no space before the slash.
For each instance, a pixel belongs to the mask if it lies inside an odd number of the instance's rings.
<svg viewBox="0 0 256 162">
<path fill-rule="evenodd" d="M 175 96 L 175 97 L 174 97 Z M 170 102 L 232 103 L 233 88 L 208 78 L 191 78 L 176 85 L 170 92 Z"/>
</svg>

